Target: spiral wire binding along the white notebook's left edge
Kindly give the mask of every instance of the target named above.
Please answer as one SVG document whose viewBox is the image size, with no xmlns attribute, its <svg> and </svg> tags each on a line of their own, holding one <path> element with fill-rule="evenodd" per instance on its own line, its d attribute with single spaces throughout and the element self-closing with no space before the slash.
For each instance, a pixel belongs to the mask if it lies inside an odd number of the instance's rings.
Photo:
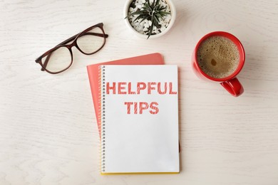
<svg viewBox="0 0 278 185">
<path fill-rule="evenodd" d="M 98 93 L 99 95 L 99 115 L 98 121 L 101 122 L 101 172 L 105 172 L 105 66 L 101 65 L 99 68 Z"/>
</svg>

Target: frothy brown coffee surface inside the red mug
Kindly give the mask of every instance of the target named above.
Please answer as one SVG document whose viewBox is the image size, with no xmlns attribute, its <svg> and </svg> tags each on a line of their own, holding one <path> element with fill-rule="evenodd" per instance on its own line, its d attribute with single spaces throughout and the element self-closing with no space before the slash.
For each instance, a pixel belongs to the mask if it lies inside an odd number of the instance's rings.
<svg viewBox="0 0 278 185">
<path fill-rule="evenodd" d="M 200 44 L 197 62 L 203 72 L 213 78 L 226 78 L 240 63 L 235 43 L 223 36 L 212 36 Z"/>
</svg>

